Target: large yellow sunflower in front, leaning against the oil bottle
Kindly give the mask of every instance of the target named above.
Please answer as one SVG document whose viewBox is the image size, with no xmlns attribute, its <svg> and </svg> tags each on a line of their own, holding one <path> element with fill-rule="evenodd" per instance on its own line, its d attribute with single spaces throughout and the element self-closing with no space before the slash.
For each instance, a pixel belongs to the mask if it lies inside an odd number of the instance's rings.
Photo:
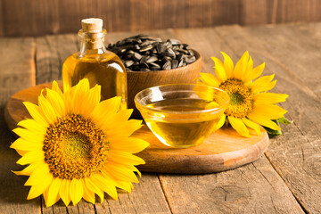
<svg viewBox="0 0 321 214">
<path fill-rule="evenodd" d="M 135 165 L 144 160 L 132 153 L 149 144 L 129 136 L 142 121 L 128 120 L 132 110 L 119 111 L 121 97 L 100 99 L 100 86 L 89 89 L 83 79 L 64 93 L 53 81 L 38 105 L 24 103 L 33 119 L 19 122 L 11 148 L 22 156 L 18 164 L 29 164 L 15 172 L 29 176 L 27 199 L 43 194 L 46 206 L 60 198 L 67 206 L 81 198 L 95 203 L 97 194 L 103 202 L 104 193 L 117 199 L 116 187 L 130 193 L 131 182 L 138 183 Z"/>
</svg>

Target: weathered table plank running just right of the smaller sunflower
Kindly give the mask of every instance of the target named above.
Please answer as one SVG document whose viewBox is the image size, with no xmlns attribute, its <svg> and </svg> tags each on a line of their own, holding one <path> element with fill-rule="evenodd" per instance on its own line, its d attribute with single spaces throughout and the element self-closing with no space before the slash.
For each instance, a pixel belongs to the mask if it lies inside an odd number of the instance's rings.
<svg viewBox="0 0 321 214">
<path fill-rule="evenodd" d="M 291 37 L 296 37 L 296 35 L 281 36 L 285 29 L 279 28 L 276 32 L 279 36 L 275 37 L 278 42 L 273 45 L 274 48 L 277 49 L 277 45 L 282 46 L 283 43 L 286 45 L 285 39 L 291 41 Z M 287 102 L 282 103 L 282 106 L 289 111 L 287 117 L 293 119 L 294 123 L 291 126 L 284 127 L 283 136 L 272 139 L 272 144 L 267 152 L 268 159 L 284 179 L 286 185 L 289 186 L 303 209 L 309 213 L 321 212 L 321 174 L 319 170 L 321 161 L 319 155 L 321 153 L 321 142 L 319 140 L 321 137 L 321 103 L 312 91 L 315 87 L 310 88 L 300 78 L 300 73 L 307 73 L 307 75 L 320 79 L 320 72 L 309 74 L 314 71 L 309 70 L 311 66 L 304 67 L 303 64 L 300 64 L 300 62 L 304 62 L 303 58 L 301 58 L 303 60 L 298 60 L 299 62 L 293 62 L 297 63 L 303 70 L 295 71 L 291 67 L 289 58 L 297 60 L 300 59 L 301 54 L 304 54 L 304 52 L 292 51 L 295 44 L 286 45 L 289 48 L 288 52 L 286 53 L 283 50 L 283 55 L 277 55 L 270 52 L 270 48 L 273 49 L 273 47 L 269 47 L 271 43 L 260 37 L 252 37 L 252 32 L 250 33 L 245 29 L 235 26 L 219 27 L 215 30 L 228 41 L 239 57 L 244 50 L 249 50 L 252 58 L 255 59 L 254 63 L 266 62 L 265 74 L 275 72 L 276 79 L 278 79 L 274 91 L 290 95 Z M 304 50 L 309 53 L 309 57 L 319 61 L 319 53 L 312 53 L 315 47 L 309 45 L 317 44 L 319 38 L 314 37 L 313 34 L 310 36 L 310 42 L 304 41 L 299 44 L 306 42 Z"/>
</svg>

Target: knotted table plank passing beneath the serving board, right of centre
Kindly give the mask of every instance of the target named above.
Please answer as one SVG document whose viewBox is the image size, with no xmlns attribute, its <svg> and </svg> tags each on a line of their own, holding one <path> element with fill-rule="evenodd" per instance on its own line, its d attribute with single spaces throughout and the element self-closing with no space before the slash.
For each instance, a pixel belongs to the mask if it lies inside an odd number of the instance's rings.
<svg viewBox="0 0 321 214">
<path fill-rule="evenodd" d="M 175 32 L 179 39 L 202 53 L 206 72 L 214 71 L 210 56 L 220 57 L 219 51 L 230 54 L 234 60 L 238 58 L 229 40 L 220 37 L 214 29 L 177 29 Z M 218 174 L 161 175 L 160 179 L 173 213 L 303 213 L 265 157 Z"/>
</svg>

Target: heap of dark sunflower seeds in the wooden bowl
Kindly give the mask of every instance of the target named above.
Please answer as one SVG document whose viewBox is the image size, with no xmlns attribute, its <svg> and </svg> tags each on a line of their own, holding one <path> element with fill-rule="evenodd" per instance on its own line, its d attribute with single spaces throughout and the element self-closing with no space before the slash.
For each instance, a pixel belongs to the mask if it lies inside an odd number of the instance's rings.
<svg viewBox="0 0 321 214">
<path fill-rule="evenodd" d="M 161 38 L 137 35 L 110 44 L 107 49 L 116 53 L 126 70 L 131 71 L 171 70 L 196 61 L 193 50 L 174 38 L 164 42 Z"/>
</svg>

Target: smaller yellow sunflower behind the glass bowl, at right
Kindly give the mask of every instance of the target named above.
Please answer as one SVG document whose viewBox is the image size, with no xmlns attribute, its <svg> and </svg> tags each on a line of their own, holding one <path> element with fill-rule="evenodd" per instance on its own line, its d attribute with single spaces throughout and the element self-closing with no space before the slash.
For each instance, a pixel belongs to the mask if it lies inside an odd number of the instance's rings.
<svg viewBox="0 0 321 214">
<path fill-rule="evenodd" d="M 254 129 L 260 135 L 259 125 L 280 130 L 272 119 L 283 118 L 286 111 L 276 103 L 284 102 L 288 95 L 267 93 L 276 86 L 276 80 L 272 81 L 275 75 L 259 78 L 265 63 L 253 68 L 248 52 L 243 54 L 235 67 L 231 58 L 226 53 L 222 54 L 224 63 L 211 57 L 215 62 L 216 77 L 201 73 L 201 78 L 198 79 L 198 84 L 219 87 L 230 96 L 230 103 L 217 128 L 228 122 L 240 135 L 246 137 L 250 137 L 248 128 Z"/>
</svg>

